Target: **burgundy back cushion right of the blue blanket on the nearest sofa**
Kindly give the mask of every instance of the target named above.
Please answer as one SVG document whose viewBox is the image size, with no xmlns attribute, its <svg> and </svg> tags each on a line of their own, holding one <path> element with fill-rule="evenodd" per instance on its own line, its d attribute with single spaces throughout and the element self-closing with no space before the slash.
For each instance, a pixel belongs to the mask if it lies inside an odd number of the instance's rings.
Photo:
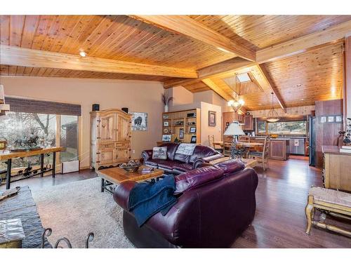
<svg viewBox="0 0 351 263">
<path fill-rule="evenodd" d="M 176 175 L 175 194 L 183 193 L 194 187 L 199 187 L 213 180 L 223 177 L 223 170 L 214 166 L 206 166 L 190 170 L 189 172 Z"/>
</svg>

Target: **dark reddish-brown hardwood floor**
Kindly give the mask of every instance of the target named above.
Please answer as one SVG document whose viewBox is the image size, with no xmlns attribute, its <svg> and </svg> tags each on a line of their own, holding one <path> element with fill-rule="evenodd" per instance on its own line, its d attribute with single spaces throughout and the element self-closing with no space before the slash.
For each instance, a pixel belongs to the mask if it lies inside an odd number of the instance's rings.
<svg viewBox="0 0 351 263">
<path fill-rule="evenodd" d="M 305 205 L 311 185 L 322 186 L 321 170 L 308 166 L 303 156 L 290 156 L 288 161 L 270 160 L 265 172 L 257 167 L 257 210 L 252 225 L 234 242 L 233 248 L 351 248 L 351 238 L 312 227 L 305 234 Z M 11 184 L 41 189 L 96 177 L 91 170 L 51 176 L 33 177 Z M 0 190 L 4 190 L 2 185 Z M 316 213 L 318 216 L 318 213 Z M 329 222 L 331 222 L 329 220 Z M 335 221 L 333 220 L 333 224 Z M 351 228 L 350 224 L 337 223 Z"/>
</svg>

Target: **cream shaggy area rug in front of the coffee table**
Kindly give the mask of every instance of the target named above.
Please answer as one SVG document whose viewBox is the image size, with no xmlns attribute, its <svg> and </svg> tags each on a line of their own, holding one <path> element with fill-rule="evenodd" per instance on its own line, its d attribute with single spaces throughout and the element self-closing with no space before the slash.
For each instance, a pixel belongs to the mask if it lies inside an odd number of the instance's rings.
<svg viewBox="0 0 351 263">
<path fill-rule="evenodd" d="M 32 191 L 41 223 L 53 229 L 48 236 L 51 245 L 66 237 L 73 248 L 84 248 L 93 232 L 90 248 L 133 248 L 124 236 L 123 210 L 112 194 L 101 193 L 100 184 L 100 178 L 93 178 Z"/>
</svg>

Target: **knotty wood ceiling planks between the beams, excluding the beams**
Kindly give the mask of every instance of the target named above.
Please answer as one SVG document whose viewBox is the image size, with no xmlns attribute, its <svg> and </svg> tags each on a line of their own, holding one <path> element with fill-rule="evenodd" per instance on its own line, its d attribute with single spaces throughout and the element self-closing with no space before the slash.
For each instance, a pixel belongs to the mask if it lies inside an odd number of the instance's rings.
<svg viewBox="0 0 351 263">
<path fill-rule="evenodd" d="M 256 51 L 351 21 L 350 15 L 190 15 L 189 18 Z M 4 46 L 72 55 L 84 50 L 89 58 L 197 70 L 199 79 L 190 79 L 183 85 L 194 93 L 211 90 L 203 81 L 205 75 L 201 74 L 206 72 L 206 78 L 211 79 L 211 83 L 232 96 L 232 90 L 223 79 L 235 74 L 235 70 L 229 71 L 229 65 L 230 60 L 237 57 L 236 54 L 220 50 L 201 39 L 193 39 L 181 32 L 126 15 L 1 15 L 0 41 Z M 264 91 L 244 95 L 246 109 L 269 108 L 272 88 L 286 107 L 340 98 L 343 86 L 342 46 L 343 41 L 336 39 L 324 46 L 303 50 L 298 55 L 264 63 L 274 87 L 265 80 L 267 76 L 258 76 Z M 224 69 L 220 67 L 221 62 L 227 63 Z M 211 65 L 217 64 L 216 75 L 211 77 Z M 259 67 L 251 66 L 247 69 L 257 71 L 258 75 L 264 74 Z M 223 74 L 218 74 L 218 69 Z M 3 76 L 136 79 L 165 83 L 178 80 L 169 76 L 17 65 L 0 65 L 0 71 Z M 245 69 L 240 65 L 237 72 L 243 71 Z M 274 104 L 279 107 L 276 97 Z"/>
</svg>

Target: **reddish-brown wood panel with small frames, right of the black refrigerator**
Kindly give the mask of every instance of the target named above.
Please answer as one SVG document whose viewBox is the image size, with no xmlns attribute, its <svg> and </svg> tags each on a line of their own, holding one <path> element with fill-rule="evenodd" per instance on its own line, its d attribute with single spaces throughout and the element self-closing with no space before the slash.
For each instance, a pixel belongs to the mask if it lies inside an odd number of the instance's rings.
<svg viewBox="0 0 351 263">
<path fill-rule="evenodd" d="M 322 145 L 336 145 L 338 132 L 343 130 L 343 123 L 321 123 L 321 116 L 342 115 L 343 100 L 317 101 L 316 106 L 316 167 L 322 168 Z"/>
</svg>

